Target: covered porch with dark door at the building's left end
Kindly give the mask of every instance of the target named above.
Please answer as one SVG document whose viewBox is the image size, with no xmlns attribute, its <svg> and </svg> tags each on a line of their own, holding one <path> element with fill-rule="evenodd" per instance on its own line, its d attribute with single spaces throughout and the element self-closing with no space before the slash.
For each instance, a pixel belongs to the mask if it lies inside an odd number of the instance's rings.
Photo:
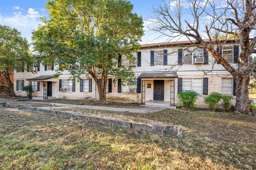
<svg viewBox="0 0 256 170">
<path fill-rule="evenodd" d="M 29 98 L 35 99 L 35 100 L 47 100 L 49 97 L 53 99 L 54 97 L 52 97 L 52 86 L 53 84 L 57 83 L 57 79 L 52 77 L 53 75 L 46 75 L 46 76 L 38 76 L 38 77 L 26 79 L 27 81 L 29 81 Z M 32 82 L 37 82 L 41 84 L 40 87 L 43 87 L 41 88 L 43 91 L 43 96 L 32 97 L 32 87 L 33 87 Z"/>
</svg>

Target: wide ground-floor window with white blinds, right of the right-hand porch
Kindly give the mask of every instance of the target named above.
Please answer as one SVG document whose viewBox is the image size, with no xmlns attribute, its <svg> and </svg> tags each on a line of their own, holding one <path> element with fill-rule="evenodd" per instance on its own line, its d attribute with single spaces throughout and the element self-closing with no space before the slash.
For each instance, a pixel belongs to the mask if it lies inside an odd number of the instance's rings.
<svg viewBox="0 0 256 170">
<path fill-rule="evenodd" d="M 196 91 L 199 94 L 203 92 L 203 82 L 202 79 L 182 79 L 183 91 Z"/>
</svg>

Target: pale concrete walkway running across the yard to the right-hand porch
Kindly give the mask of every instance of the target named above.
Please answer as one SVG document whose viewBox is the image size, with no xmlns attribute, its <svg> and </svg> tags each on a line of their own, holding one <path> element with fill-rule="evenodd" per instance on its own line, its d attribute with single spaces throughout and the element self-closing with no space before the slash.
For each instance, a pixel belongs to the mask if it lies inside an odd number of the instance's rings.
<svg viewBox="0 0 256 170">
<path fill-rule="evenodd" d="M 78 104 L 62 104 L 62 103 L 47 103 L 47 102 L 31 102 L 31 103 L 44 103 L 44 104 L 55 104 L 54 108 L 85 108 L 85 109 L 95 109 L 95 110 L 107 110 L 114 112 L 130 112 L 130 113 L 154 113 L 163 111 L 166 108 L 162 107 L 144 107 L 144 108 L 119 108 L 119 107 L 104 107 L 104 106 L 90 106 L 90 105 L 78 105 Z M 48 108 L 48 107 L 44 107 Z M 49 107 L 52 108 L 52 107 Z"/>
</svg>

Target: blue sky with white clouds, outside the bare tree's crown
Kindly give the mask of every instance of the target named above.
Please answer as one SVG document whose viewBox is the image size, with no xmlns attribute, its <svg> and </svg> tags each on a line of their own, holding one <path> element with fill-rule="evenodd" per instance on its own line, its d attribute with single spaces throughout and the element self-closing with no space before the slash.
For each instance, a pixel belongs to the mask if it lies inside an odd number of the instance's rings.
<svg viewBox="0 0 256 170">
<path fill-rule="evenodd" d="M 46 0 L 0 0 L 0 24 L 18 29 L 22 36 L 31 42 L 31 31 L 36 30 L 41 23 L 40 17 L 48 17 L 49 10 L 44 7 L 46 2 Z M 161 0 L 131 0 L 130 2 L 134 5 L 133 12 L 142 16 L 144 21 L 150 17 L 153 5 L 163 3 Z M 156 33 L 145 32 L 141 44 L 153 43 L 152 39 L 156 36 Z"/>
</svg>

